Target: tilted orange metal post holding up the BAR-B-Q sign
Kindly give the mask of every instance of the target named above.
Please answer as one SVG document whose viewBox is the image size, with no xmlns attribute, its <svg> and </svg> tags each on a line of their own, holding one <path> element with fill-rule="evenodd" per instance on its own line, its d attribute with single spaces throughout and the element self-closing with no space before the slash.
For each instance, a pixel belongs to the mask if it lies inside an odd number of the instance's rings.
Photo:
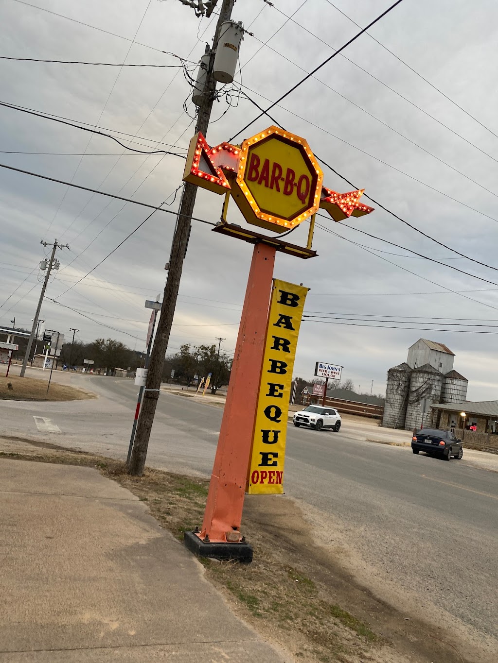
<svg viewBox="0 0 498 663">
<path fill-rule="evenodd" d="M 205 542 L 238 542 L 242 538 L 240 520 L 272 294 L 275 252 L 275 247 L 257 243 L 252 254 L 203 528 L 198 534 Z"/>
</svg>

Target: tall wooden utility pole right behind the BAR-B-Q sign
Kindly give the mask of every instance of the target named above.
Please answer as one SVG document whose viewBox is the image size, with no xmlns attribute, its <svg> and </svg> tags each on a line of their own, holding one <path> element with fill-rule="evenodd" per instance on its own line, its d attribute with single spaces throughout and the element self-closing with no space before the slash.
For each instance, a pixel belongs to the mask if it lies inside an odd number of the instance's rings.
<svg viewBox="0 0 498 663">
<path fill-rule="evenodd" d="M 216 80 L 214 80 L 213 75 L 216 46 L 220 39 L 222 23 L 224 23 L 224 21 L 229 21 L 232 17 L 234 3 L 235 0 L 223 0 L 218 23 L 216 24 L 216 31 L 214 32 L 212 49 L 209 51 L 209 65 L 206 76 L 205 93 L 201 105 L 199 105 L 197 126 L 195 127 L 195 131 L 201 131 L 203 135 L 207 134 L 212 104 L 216 95 Z M 209 3 L 211 10 L 214 8 L 215 4 L 216 3 L 213 2 Z M 143 474 L 143 468 L 145 467 L 147 447 L 149 446 L 155 408 L 157 406 L 157 399 L 159 398 L 161 378 L 163 377 L 164 358 L 168 347 L 169 334 L 171 333 L 171 325 L 173 324 L 175 306 L 177 304 L 183 260 L 185 259 L 187 245 L 189 243 L 191 218 L 194 211 L 197 189 L 198 187 L 195 184 L 186 183 L 183 186 L 183 196 L 181 198 L 180 209 L 177 216 L 175 233 L 173 234 L 173 242 L 171 244 L 169 271 L 164 288 L 163 306 L 161 308 L 161 316 L 159 317 L 157 333 L 152 347 L 149 371 L 147 373 L 147 380 L 143 391 L 143 403 L 138 419 L 135 442 L 133 443 L 133 452 L 131 453 L 129 463 L 129 471 L 133 476 L 141 477 Z"/>
</svg>

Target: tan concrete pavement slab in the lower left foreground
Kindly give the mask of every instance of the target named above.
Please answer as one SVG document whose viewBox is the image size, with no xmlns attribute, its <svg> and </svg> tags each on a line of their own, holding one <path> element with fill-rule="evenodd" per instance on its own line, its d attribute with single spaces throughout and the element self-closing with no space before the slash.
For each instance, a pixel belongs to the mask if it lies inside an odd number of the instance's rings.
<svg viewBox="0 0 498 663">
<path fill-rule="evenodd" d="M 94 469 L 1 459 L 0 520 L 2 663 L 290 660 Z"/>
</svg>

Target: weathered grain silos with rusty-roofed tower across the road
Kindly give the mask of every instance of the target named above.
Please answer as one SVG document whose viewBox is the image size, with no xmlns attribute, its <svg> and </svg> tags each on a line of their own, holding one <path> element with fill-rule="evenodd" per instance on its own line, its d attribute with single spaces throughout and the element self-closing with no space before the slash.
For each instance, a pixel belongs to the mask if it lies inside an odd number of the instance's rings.
<svg viewBox="0 0 498 663">
<path fill-rule="evenodd" d="M 387 372 L 382 426 L 420 428 L 429 404 L 464 402 L 468 381 L 453 369 L 454 358 L 443 343 L 421 338 L 411 345 L 406 362 Z"/>
</svg>

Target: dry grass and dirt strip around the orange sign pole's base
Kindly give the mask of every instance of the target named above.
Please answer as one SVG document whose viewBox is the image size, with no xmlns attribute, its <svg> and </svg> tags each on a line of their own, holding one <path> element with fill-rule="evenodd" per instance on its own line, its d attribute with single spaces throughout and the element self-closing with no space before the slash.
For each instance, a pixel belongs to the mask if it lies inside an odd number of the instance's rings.
<svg viewBox="0 0 498 663">
<path fill-rule="evenodd" d="M 37 446 L 35 446 L 37 444 Z M 97 467 L 147 503 L 174 536 L 201 524 L 208 481 L 47 443 L 9 438 L 0 456 Z M 242 523 L 254 548 L 248 566 L 201 560 L 208 578 L 240 617 L 294 660 L 337 663 L 467 663 L 456 642 L 377 599 L 313 543 L 309 523 L 285 496 L 248 496 Z"/>
</svg>

